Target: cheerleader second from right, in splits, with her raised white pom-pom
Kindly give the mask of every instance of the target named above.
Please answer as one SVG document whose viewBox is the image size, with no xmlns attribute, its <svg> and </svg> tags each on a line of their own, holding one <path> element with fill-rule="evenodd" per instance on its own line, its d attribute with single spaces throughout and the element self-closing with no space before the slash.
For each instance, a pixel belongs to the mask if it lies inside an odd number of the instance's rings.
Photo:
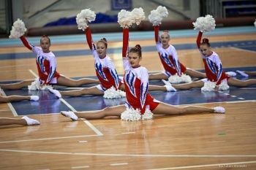
<svg viewBox="0 0 256 170">
<path fill-rule="evenodd" d="M 169 45 L 170 34 L 167 30 L 163 31 L 159 37 L 159 26 L 162 23 L 163 18 L 167 17 L 167 15 L 168 12 L 166 7 L 162 6 L 152 10 L 151 14 L 148 15 L 148 20 L 154 26 L 154 38 L 157 43 L 157 51 L 162 66 L 165 69 L 165 71 L 160 73 L 149 74 L 149 80 L 168 80 L 168 82 L 171 83 L 180 83 L 192 82 L 191 77 L 206 78 L 205 73 L 186 68 L 178 61 L 176 48 L 173 47 L 173 45 Z M 236 76 L 235 72 L 227 72 L 226 74 Z"/>
</svg>

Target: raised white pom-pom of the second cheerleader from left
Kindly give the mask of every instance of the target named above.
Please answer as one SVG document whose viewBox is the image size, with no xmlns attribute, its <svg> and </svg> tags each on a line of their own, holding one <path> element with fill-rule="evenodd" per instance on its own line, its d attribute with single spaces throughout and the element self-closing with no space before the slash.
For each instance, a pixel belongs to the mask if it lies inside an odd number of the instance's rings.
<svg viewBox="0 0 256 170">
<path fill-rule="evenodd" d="M 91 23 L 96 18 L 95 12 L 91 11 L 91 9 L 83 9 L 77 15 L 76 22 L 78 24 L 78 29 L 82 29 L 83 31 L 86 30 L 88 27 L 87 23 Z"/>
</svg>

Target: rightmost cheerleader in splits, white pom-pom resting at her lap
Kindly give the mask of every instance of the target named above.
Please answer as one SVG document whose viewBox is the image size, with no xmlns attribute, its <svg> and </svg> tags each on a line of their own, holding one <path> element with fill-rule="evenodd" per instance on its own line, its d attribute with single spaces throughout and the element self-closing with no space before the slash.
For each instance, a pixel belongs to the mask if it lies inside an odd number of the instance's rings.
<svg viewBox="0 0 256 170">
<path fill-rule="evenodd" d="M 237 87 L 246 87 L 249 85 L 256 85 L 256 80 L 237 80 L 233 77 L 227 76 L 222 70 L 222 62 L 219 59 L 219 55 L 211 50 L 211 45 L 208 39 L 203 39 L 203 32 L 199 31 L 197 36 L 197 47 L 203 58 L 203 63 L 206 71 L 206 79 L 199 80 L 197 82 L 185 83 L 182 85 L 173 85 L 176 89 L 190 89 L 190 88 L 202 88 L 202 90 L 227 90 L 228 85 Z M 170 82 L 162 80 L 165 84 L 170 85 Z"/>
</svg>

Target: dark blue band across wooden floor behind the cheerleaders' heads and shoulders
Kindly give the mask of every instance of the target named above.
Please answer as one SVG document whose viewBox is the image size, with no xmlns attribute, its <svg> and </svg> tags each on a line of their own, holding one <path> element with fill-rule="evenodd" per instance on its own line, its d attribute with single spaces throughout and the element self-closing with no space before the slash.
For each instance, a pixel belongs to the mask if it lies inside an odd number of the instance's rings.
<svg viewBox="0 0 256 170">
<path fill-rule="evenodd" d="M 192 50 L 197 49 L 197 45 L 193 44 L 182 44 L 182 45 L 173 45 L 176 47 L 176 50 Z M 249 40 L 249 41 L 235 41 L 235 42 L 212 42 L 211 47 L 237 47 L 244 50 L 252 50 L 256 51 L 256 40 Z M 87 48 L 87 49 L 86 49 Z M 156 52 L 157 54 L 157 47 L 156 45 L 152 46 L 145 46 L 143 47 L 143 52 Z M 61 50 L 61 51 L 54 51 L 54 55 L 61 56 L 61 57 L 69 57 L 69 56 L 77 56 L 77 55 L 92 55 L 91 50 L 89 47 L 86 47 L 84 50 Z M 116 48 L 108 48 L 108 55 L 120 53 L 121 54 L 121 47 Z M 35 58 L 36 55 L 31 53 L 28 50 L 28 53 L 6 53 L 0 54 L 0 60 L 17 60 L 17 59 L 24 59 L 24 58 Z"/>
</svg>

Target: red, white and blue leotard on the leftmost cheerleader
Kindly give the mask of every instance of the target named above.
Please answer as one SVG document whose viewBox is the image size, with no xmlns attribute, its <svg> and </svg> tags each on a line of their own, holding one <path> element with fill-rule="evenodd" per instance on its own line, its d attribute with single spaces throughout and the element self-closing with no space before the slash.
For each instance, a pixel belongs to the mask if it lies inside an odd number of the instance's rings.
<svg viewBox="0 0 256 170">
<path fill-rule="evenodd" d="M 37 54 L 37 71 L 41 84 L 56 84 L 60 77 L 60 74 L 56 72 L 56 56 L 52 52 L 43 53 L 41 47 L 31 45 L 25 36 L 20 36 L 20 39 L 25 47 Z"/>
</svg>

